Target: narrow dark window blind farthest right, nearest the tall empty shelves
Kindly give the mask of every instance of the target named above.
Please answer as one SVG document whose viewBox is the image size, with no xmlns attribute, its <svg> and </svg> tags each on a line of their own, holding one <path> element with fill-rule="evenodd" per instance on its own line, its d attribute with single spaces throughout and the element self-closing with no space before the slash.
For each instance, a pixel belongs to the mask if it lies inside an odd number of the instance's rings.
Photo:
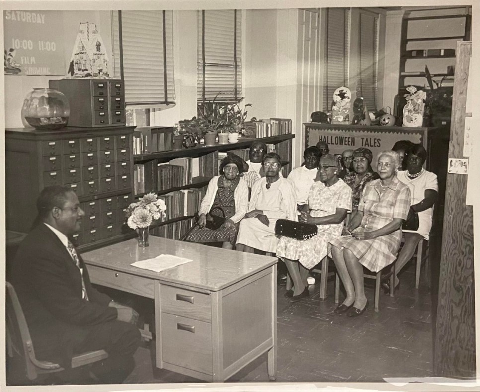
<svg viewBox="0 0 480 392">
<path fill-rule="evenodd" d="M 377 110 L 378 15 L 360 11 L 360 78 L 357 96 L 369 111 Z"/>
</svg>

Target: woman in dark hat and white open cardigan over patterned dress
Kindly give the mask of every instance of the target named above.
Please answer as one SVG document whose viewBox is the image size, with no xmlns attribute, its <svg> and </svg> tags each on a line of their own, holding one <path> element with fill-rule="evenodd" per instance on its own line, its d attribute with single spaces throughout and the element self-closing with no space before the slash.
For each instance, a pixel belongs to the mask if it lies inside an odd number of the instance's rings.
<svg viewBox="0 0 480 392">
<path fill-rule="evenodd" d="M 223 242 L 224 249 L 232 249 L 237 237 L 240 220 L 248 208 L 248 185 L 239 177 L 243 172 L 243 160 L 227 155 L 220 163 L 222 175 L 213 177 L 198 211 L 198 226 L 185 238 L 189 242 Z M 225 223 L 216 230 L 205 227 L 207 214 L 225 216 Z"/>
</svg>

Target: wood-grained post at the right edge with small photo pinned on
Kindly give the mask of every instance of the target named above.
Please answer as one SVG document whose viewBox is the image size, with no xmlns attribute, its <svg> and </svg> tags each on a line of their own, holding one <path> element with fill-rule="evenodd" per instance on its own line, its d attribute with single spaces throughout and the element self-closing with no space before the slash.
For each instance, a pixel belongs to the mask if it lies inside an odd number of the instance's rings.
<svg viewBox="0 0 480 392">
<path fill-rule="evenodd" d="M 465 104 L 471 51 L 471 42 L 457 42 L 449 158 L 464 158 Z M 435 376 L 475 376 L 473 210 L 472 206 L 465 204 L 466 191 L 467 175 L 447 174 L 435 325 Z"/>
</svg>

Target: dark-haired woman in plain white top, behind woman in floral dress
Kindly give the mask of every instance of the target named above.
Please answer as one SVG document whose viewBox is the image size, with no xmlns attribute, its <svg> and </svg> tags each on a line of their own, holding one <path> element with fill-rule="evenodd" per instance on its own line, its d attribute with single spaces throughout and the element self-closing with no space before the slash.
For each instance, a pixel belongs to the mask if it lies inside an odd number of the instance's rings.
<svg viewBox="0 0 480 392">
<path fill-rule="evenodd" d="M 320 160 L 320 150 L 315 146 L 310 146 L 303 152 L 305 165 L 293 169 L 288 176 L 295 187 L 297 195 L 297 207 L 302 208 L 307 203 L 310 187 L 317 177 L 317 166 Z"/>
</svg>

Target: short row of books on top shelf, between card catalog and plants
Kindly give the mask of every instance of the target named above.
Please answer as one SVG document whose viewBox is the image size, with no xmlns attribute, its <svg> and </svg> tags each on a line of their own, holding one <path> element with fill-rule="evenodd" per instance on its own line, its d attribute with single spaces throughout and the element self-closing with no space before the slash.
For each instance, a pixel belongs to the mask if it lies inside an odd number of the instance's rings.
<svg viewBox="0 0 480 392">
<path fill-rule="evenodd" d="M 137 127 L 133 132 L 133 154 L 150 154 L 173 149 L 172 127 Z"/>
</svg>

